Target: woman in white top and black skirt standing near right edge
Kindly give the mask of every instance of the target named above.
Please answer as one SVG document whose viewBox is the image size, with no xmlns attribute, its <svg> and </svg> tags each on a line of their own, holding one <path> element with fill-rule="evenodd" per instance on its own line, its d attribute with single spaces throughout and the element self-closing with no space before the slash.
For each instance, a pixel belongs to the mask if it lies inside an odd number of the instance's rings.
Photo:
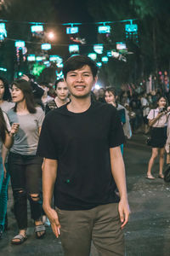
<svg viewBox="0 0 170 256">
<path fill-rule="evenodd" d="M 154 179 L 155 177 L 151 174 L 151 168 L 154 164 L 156 156 L 160 155 L 159 158 L 159 175 L 158 177 L 163 178 L 163 164 L 164 164 L 164 152 L 165 144 L 167 140 L 167 100 L 165 96 L 160 96 L 157 99 L 157 108 L 151 109 L 148 114 L 149 125 L 151 127 L 151 147 L 152 154 L 148 164 L 147 178 Z"/>
</svg>

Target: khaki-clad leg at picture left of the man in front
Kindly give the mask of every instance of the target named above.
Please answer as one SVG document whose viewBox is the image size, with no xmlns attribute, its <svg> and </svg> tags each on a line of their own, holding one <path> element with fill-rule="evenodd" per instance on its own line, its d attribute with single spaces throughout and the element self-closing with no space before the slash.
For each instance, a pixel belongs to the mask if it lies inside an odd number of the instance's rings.
<svg viewBox="0 0 170 256">
<path fill-rule="evenodd" d="M 59 216 L 60 239 L 65 256 L 89 256 L 93 218 L 91 210 L 65 211 L 56 209 Z"/>
</svg>

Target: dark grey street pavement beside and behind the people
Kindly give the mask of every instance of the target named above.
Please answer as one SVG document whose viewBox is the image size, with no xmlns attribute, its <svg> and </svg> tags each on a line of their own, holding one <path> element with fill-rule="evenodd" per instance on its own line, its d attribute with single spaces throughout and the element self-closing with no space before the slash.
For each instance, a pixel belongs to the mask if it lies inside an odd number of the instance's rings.
<svg viewBox="0 0 170 256">
<path fill-rule="evenodd" d="M 124 230 L 127 256 L 170 256 L 170 183 L 164 183 L 161 178 L 145 178 L 150 152 L 150 147 L 145 145 L 143 134 L 133 135 L 125 145 L 127 191 L 132 212 Z M 153 168 L 155 177 L 158 176 L 158 169 L 156 160 Z M 17 225 L 10 211 L 12 202 L 9 186 L 8 231 L 0 240 L 0 256 L 64 256 L 61 243 L 54 237 L 50 228 L 47 228 L 47 234 L 43 239 L 35 238 L 30 212 L 28 240 L 20 246 L 10 243 L 11 238 L 17 235 Z M 91 256 L 98 256 L 93 246 Z"/>
</svg>

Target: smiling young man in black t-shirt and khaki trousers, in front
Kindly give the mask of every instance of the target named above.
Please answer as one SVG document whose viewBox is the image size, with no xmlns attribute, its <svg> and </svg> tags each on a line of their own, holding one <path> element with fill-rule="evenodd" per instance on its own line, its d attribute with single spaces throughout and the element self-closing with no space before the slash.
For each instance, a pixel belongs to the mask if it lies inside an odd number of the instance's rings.
<svg viewBox="0 0 170 256">
<path fill-rule="evenodd" d="M 130 211 L 120 119 L 113 106 L 91 102 L 94 61 L 72 56 L 63 73 L 71 102 L 47 114 L 37 149 L 44 157 L 43 209 L 66 256 L 88 256 L 91 241 L 100 255 L 124 255 L 122 228 Z"/>
</svg>

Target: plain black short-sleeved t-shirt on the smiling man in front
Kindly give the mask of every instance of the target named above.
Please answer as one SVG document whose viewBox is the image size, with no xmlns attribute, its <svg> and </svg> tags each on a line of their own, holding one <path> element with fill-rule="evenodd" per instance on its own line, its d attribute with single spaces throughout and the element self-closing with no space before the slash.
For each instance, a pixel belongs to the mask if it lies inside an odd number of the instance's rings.
<svg viewBox="0 0 170 256">
<path fill-rule="evenodd" d="M 110 148 L 125 139 L 116 108 L 92 102 L 87 111 L 72 113 L 67 105 L 46 115 L 37 148 L 38 155 L 58 160 L 55 206 L 82 210 L 118 202 Z"/>
</svg>

